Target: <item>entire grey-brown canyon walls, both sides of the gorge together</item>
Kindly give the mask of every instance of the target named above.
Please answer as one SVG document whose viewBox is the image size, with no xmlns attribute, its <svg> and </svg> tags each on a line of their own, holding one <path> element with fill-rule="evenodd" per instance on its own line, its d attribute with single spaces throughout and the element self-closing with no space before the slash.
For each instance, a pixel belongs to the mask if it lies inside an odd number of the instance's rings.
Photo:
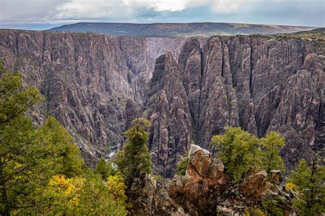
<svg viewBox="0 0 325 216">
<path fill-rule="evenodd" d="M 149 148 L 163 176 L 191 141 L 209 148 L 224 126 L 279 131 L 289 167 L 324 148 L 325 59 L 306 40 L 1 30 L 0 57 L 45 96 L 34 121 L 56 117 L 91 164 L 135 116 L 152 122 Z"/>
</svg>

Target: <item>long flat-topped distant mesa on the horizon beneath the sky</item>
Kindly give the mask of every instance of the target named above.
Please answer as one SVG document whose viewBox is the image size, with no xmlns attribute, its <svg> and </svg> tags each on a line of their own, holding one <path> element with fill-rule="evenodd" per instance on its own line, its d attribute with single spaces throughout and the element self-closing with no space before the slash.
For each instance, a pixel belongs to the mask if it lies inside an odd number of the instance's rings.
<svg viewBox="0 0 325 216">
<path fill-rule="evenodd" d="M 292 33 L 311 29 L 315 27 L 239 23 L 74 23 L 48 31 L 93 32 L 112 36 L 189 37 Z"/>
</svg>

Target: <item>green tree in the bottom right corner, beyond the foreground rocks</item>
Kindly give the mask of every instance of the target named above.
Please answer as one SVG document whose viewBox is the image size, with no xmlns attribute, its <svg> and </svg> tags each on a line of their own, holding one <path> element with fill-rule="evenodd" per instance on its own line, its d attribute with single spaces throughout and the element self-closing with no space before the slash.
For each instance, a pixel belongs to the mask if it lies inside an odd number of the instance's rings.
<svg viewBox="0 0 325 216">
<path fill-rule="evenodd" d="M 301 159 L 289 183 L 298 189 L 298 199 L 293 203 L 299 215 L 322 215 L 325 213 L 325 166 L 317 163 L 317 157 L 307 163 Z"/>
</svg>

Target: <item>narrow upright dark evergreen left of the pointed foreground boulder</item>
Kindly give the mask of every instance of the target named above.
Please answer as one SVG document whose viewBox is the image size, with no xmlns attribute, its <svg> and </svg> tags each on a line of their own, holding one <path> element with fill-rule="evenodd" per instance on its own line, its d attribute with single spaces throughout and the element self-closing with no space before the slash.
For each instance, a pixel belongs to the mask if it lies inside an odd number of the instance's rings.
<svg viewBox="0 0 325 216">
<path fill-rule="evenodd" d="M 152 161 L 147 147 L 148 127 L 149 121 L 143 118 L 134 119 L 132 128 L 125 132 L 128 142 L 125 144 L 123 152 L 117 153 L 115 162 L 128 187 L 131 186 L 134 178 L 139 176 L 140 172 L 147 172 L 147 174 L 152 172 Z"/>
</svg>

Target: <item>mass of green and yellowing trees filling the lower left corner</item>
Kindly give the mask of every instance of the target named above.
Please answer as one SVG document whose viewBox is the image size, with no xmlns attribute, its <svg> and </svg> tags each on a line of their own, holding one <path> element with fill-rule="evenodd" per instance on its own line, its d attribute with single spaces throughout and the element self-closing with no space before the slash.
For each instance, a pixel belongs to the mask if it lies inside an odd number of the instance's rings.
<svg viewBox="0 0 325 216">
<path fill-rule="evenodd" d="M 0 215 L 126 215 L 120 174 L 84 167 L 80 149 L 53 117 L 36 127 L 25 111 L 42 100 L 0 61 Z"/>
</svg>

